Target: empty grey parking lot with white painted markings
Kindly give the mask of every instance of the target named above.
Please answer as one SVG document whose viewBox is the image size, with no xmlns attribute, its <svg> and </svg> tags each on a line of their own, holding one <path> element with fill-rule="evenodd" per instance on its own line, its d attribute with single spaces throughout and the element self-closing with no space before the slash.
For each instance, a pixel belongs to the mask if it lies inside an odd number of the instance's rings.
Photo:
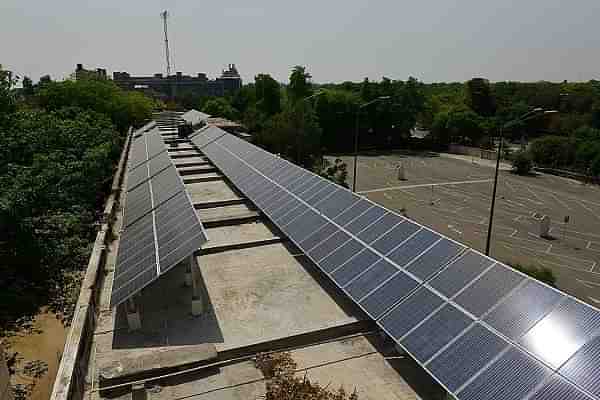
<svg viewBox="0 0 600 400">
<path fill-rule="evenodd" d="M 352 157 L 340 157 L 352 181 Z M 398 179 L 402 163 L 405 180 Z M 459 242 L 485 250 L 494 162 L 451 155 L 361 155 L 357 191 Z M 600 188 L 500 171 L 491 255 L 547 267 L 562 290 L 600 306 Z M 540 219 L 551 218 L 550 238 Z M 568 216 L 568 222 L 565 217 Z"/>
</svg>

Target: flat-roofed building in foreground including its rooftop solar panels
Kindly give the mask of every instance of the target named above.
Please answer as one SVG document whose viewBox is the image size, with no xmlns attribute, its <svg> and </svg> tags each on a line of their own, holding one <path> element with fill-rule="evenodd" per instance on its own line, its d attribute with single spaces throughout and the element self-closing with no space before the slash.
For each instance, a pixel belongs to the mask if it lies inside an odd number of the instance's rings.
<svg viewBox="0 0 600 400">
<path fill-rule="evenodd" d="M 52 400 L 265 398 L 281 351 L 361 400 L 600 398 L 596 308 L 178 117 L 130 135 Z"/>
</svg>

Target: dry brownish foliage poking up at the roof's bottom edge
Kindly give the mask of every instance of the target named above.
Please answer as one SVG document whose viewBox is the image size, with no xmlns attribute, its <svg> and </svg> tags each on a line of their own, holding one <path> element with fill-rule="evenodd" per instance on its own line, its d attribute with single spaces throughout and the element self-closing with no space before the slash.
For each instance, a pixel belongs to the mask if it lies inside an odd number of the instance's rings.
<svg viewBox="0 0 600 400">
<path fill-rule="evenodd" d="M 343 387 L 331 391 L 311 382 L 306 375 L 297 377 L 297 364 L 289 352 L 258 354 L 254 362 L 268 379 L 266 400 L 358 400 L 356 390 L 348 395 Z"/>
</svg>

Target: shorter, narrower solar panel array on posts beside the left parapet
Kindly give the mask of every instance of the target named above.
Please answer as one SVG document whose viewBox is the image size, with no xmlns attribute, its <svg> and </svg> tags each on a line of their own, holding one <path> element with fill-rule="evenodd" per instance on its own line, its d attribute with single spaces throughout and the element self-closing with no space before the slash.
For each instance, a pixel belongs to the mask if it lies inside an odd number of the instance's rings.
<svg viewBox="0 0 600 400">
<path fill-rule="evenodd" d="M 207 240 L 154 125 L 136 131 L 132 137 L 126 189 L 112 307 L 152 283 Z"/>
</svg>

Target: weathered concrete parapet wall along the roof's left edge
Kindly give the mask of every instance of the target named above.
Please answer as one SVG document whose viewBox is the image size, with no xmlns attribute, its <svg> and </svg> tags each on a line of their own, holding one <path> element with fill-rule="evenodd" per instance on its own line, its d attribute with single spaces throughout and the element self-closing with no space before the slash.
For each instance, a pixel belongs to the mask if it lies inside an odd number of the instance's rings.
<svg viewBox="0 0 600 400">
<path fill-rule="evenodd" d="M 91 338 L 96 324 L 96 304 L 100 289 L 98 281 L 106 261 L 107 244 L 112 240 L 112 224 L 118 209 L 118 198 L 131 137 L 132 129 L 130 128 L 117 171 L 113 177 L 111 193 L 106 200 L 102 225 L 96 235 L 94 248 L 81 284 L 71 328 L 54 381 L 51 400 L 78 400 L 83 397 Z M 0 400 L 4 400 L 4 398 Z"/>
</svg>

